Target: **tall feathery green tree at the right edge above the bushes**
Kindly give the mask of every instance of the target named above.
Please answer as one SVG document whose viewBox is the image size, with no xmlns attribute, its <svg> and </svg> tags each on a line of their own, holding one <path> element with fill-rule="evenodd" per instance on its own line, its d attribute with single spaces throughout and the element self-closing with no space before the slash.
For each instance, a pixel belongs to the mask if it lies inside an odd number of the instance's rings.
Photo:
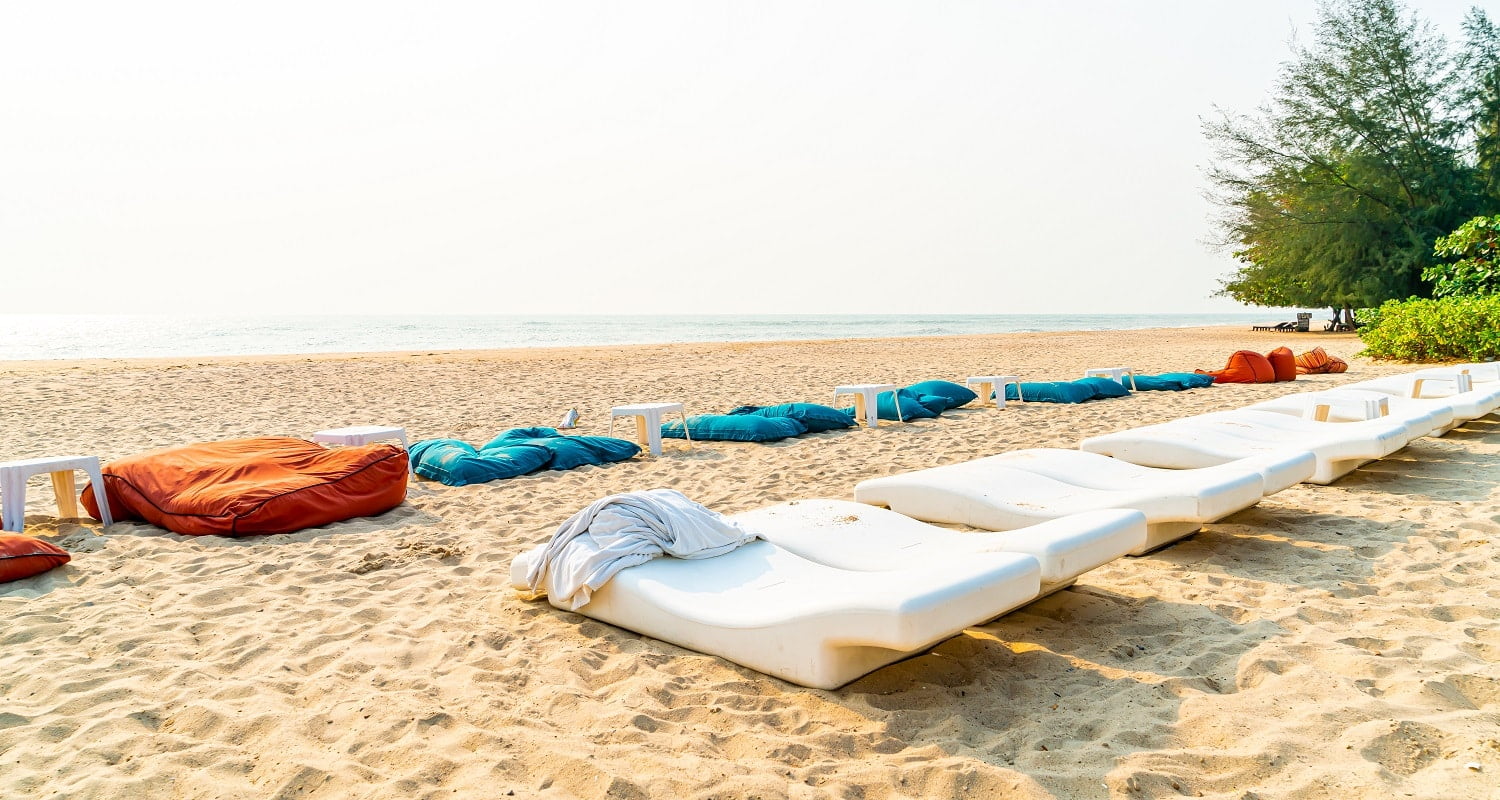
<svg viewBox="0 0 1500 800">
<path fill-rule="evenodd" d="M 1206 123 L 1224 240 L 1242 263 L 1220 294 L 1270 306 L 1430 294 L 1432 240 L 1500 207 L 1476 165 L 1496 125 L 1485 108 L 1500 108 L 1485 107 L 1500 104 L 1485 84 L 1500 78 L 1500 38 L 1479 11 L 1466 30 L 1454 57 L 1396 0 L 1326 3 L 1270 104 Z"/>
</svg>

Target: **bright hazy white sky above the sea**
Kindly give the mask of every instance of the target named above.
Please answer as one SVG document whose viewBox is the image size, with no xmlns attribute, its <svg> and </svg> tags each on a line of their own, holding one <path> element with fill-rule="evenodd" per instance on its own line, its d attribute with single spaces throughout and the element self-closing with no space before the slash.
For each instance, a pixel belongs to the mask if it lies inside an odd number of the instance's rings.
<svg viewBox="0 0 1500 800">
<path fill-rule="evenodd" d="M 1450 39 L 1470 3 L 1413 8 Z M 0 3 L 4 312 L 1216 312 L 1312 2 Z"/>
</svg>

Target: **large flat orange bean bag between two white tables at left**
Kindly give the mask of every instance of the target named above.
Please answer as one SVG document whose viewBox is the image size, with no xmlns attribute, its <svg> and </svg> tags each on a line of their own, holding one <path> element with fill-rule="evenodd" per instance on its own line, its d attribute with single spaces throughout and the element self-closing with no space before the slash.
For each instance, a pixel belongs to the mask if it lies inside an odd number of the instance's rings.
<svg viewBox="0 0 1500 800">
<path fill-rule="evenodd" d="M 194 536 L 291 533 L 399 506 L 406 452 L 286 437 L 207 441 L 111 461 L 104 483 L 116 519 Z M 98 518 L 93 492 L 86 486 L 82 503 Z"/>
</svg>

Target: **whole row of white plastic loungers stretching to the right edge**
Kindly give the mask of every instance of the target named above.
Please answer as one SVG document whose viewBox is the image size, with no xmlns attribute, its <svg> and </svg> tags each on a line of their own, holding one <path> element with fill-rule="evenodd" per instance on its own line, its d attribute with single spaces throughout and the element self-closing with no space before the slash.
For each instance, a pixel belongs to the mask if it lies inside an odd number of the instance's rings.
<svg viewBox="0 0 1500 800">
<path fill-rule="evenodd" d="M 1497 365 L 1458 365 L 1094 437 L 1078 450 L 876 477 L 855 486 L 854 503 L 801 500 L 729 516 L 760 540 L 624 569 L 578 611 L 831 689 L 1122 555 L 1293 483 L 1329 483 L 1497 408 Z M 512 567 L 518 590 L 531 557 Z"/>
</svg>

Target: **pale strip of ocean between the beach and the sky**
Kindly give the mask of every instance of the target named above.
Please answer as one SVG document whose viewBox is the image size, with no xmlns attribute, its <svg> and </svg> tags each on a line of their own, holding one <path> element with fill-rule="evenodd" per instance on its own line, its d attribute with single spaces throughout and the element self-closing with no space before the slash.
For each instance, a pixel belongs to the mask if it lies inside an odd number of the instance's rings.
<svg viewBox="0 0 1500 800">
<path fill-rule="evenodd" d="M 388 353 L 1245 324 L 1286 312 L 858 315 L 0 315 L 0 360 Z"/>
</svg>

